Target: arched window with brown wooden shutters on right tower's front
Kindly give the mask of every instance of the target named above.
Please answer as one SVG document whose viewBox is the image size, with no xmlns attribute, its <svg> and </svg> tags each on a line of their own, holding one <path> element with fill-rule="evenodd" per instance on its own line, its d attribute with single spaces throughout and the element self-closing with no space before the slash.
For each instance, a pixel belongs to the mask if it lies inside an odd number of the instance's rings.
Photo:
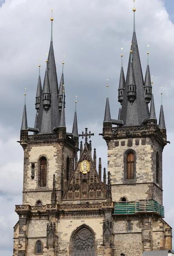
<svg viewBox="0 0 174 256">
<path fill-rule="evenodd" d="M 135 152 L 129 150 L 125 153 L 125 180 L 133 180 L 136 175 Z"/>
</svg>

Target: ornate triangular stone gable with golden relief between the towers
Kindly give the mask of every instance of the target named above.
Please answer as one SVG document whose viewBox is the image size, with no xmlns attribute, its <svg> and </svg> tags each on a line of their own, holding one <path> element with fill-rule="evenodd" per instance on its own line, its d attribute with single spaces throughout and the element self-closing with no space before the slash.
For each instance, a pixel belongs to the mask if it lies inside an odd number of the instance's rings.
<svg viewBox="0 0 174 256">
<path fill-rule="evenodd" d="M 106 199 L 103 183 L 85 144 L 62 200 Z"/>
</svg>

